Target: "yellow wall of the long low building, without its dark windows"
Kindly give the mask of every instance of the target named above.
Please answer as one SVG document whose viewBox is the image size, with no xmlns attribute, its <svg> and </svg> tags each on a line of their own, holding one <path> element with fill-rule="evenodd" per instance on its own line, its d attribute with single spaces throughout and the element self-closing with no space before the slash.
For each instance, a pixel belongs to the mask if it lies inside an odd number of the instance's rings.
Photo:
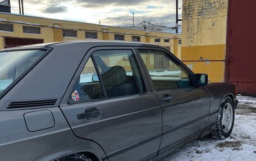
<svg viewBox="0 0 256 161">
<path fill-rule="evenodd" d="M 140 36 L 140 42 L 159 44 L 164 47 L 170 47 L 170 50 L 177 57 L 181 58 L 181 45 L 177 44 L 181 35 L 163 33 L 157 31 L 135 30 L 122 27 L 112 27 L 84 22 L 72 22 L 54 19 L 45 19 L 42 17 L 31 17 L 0 13 L 0 23 L 13 24 L 13 32 L 4 32 L 0 30 L 0 49 L 4 48 L 4 37 L 15 38 L 34 38 L 43 39 L 44 43 L 61 42 L 66 40 L 90 40 L 85 39 L 86 31 L 98 33 L 98 40 L 114 40 L 115 34 L 122 34 L 126 42 L 131 42 L 131 36 Z M 22 31 L 22 26 L 39 26 L 41 34 L 26 34 Z M 72 29 L 77 31 L 76 38 L 63 37 L 62 29 Z M 155 39 L 161 41 L 155 43 Z M 164 43 L 164 39 L 170 39 L 170 42 Z M 176 44 L 175 44 L 176 43 Z"/>
</svg>

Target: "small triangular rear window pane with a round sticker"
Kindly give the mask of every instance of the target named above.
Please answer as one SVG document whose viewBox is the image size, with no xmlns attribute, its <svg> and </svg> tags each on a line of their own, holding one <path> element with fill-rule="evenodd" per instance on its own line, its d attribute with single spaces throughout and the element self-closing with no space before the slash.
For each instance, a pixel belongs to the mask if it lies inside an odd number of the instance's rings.
<svg viewBox="0 0 256 161">
<path fill-rule="evenodd" d="M 92 58 L 89 58 L 72 90 L 68 103 L 81 103 L 104 98 L 97 71 Z"/>
</svg>

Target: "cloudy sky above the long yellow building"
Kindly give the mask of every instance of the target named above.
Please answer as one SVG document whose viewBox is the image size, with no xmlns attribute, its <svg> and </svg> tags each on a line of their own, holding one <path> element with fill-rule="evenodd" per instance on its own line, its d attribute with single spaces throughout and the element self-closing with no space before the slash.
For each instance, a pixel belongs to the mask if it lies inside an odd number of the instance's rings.
<svg viewBox="0 0 256 161">
<path fill-rule="evenodd" d="M 130 11 L 135 25 L 145 19 L 175 26 L 175 0 L 24 0 L 25 15 L 113 26 L 131 26 Z M 11 12 L 19 13 L 18 0 L 11 0 Z"/>
</svg>

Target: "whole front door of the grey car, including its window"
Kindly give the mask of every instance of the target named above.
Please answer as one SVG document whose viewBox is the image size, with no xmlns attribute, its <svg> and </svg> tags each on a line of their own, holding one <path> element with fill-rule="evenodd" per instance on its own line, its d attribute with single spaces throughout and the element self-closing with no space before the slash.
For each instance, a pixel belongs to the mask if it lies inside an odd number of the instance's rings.
<svg viewBox="0 0 256 161">
<path fill-rule="evenodd" d="M 193 85 L 186 67 L 166 50 L 136 50 L 162 108 L 163 139 L 159 151 L 162 153 L 205 128 L 209 117 L 209 95 L 204 87 Z"/>
</svg>

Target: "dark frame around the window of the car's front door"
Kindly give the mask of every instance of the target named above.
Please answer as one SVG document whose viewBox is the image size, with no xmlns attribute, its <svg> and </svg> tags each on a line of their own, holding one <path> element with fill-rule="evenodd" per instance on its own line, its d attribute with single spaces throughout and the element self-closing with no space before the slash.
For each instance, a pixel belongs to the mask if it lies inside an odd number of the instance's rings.
<svg viewBox="0 0 256 161">
<path fill-rule="evenodd" d="M 164 48 L 154 48 L 154 47 L 134 47 L 135 51 L 136 51 L 136 54 L 138 55 L 139 57 L 139 60 L 140 60 L 140 63 L 141 65 L 143 66 L 143 70 L 145 71 L 146 73 L 146 76 L 147 76 L 147 80 L 149 81 L 149 84 L 150 84 L 150 88 L 152 89 L 152 91 L 154 93 L 158 93 L 158 92 L 161 92 L 161 91 L 157 91 L 156 90 L 156 87 L 154 86 L 153 84 L 153 80 L 149 74 L 149 71 L 147 69 L 147 66 L 145 65 L 144 61 L 143 61 L 143 58 L 140 56 L 140 53 L 139 53 L 139 50 L 158 50 L 158 51 L 161 51 L 163 53 L 166 53 L 168 56 L 170 56 L 171 60 L 172 61 L 175 61 L 176 63 L 178 63 L 179 65 L 181 65 L 182 68 L 184 68 L 184 70 L 186 72 L 188 72 L 188 75 L 189 75 L 189 79 L 190 78 L 190 73 L 193 73 L 193 71 L 190 70 L 190 68 L 188 68 L 187 66 L 185 66 L 183 63 L 181 63 L 181 61 L 179 59 L 177 59 L 176 57 L 173 57 L 169 51 L 167 51 L 166 49 Z M 170 89 L 171 90 L 171 89 Z"/>
</svg>

